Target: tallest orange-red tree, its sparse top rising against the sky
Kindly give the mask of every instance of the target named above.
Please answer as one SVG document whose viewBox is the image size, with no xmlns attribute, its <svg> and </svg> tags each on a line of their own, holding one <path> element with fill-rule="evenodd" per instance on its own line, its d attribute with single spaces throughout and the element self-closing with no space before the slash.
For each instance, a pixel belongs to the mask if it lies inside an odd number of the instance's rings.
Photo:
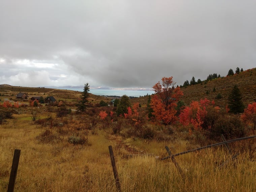
<svg viewBox="0 0 256 192">
<path fill-rule="evenodd" d="M 174 88 L 176 83 L 172 81 L 171 77 L 163 77 L 162 85 L 160 82 L 153 86 L 155 95 L 151 99 L 151 107 L 153 109 L 152 115 L 159 122 L 165 125 L 174 123 L 177 120 L 175 114 L 177 110 L 177 102 L 183 95 L 180 87 Z"/>
</svg>

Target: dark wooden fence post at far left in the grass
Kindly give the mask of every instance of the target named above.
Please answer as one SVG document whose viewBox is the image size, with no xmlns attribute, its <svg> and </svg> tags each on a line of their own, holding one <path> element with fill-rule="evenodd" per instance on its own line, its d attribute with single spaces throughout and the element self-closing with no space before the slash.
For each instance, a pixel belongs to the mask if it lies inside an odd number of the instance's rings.
<svg viewBox="0 0 256 192">
<path fill-rule="evenodd" d="M 16 180 L 16 176 L 17 176 L 17 172 L 18 172 L 19 161 L 20 161 L 20 154 L 21 154 L 20 149 L 14 150 L 7 192 L 14 191 L 14 185 L 15 185 L 15 180 Z"/>
</svg>

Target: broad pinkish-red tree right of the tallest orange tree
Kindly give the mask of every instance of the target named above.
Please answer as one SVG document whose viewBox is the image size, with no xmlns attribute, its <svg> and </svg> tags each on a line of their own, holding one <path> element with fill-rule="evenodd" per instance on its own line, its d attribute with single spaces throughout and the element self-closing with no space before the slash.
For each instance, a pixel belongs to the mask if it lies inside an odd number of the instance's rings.
<svg viewBox="0 0 256 192">
<path fill-rule="evenodd" d="M 179 115 L 180 123 L 187 126 L 192 124 L 195 130 L 211 128 L 217 119 L 220 108 L 214 106 L 214 101 L 201 99 L 192 101 Z"/>
</svg>

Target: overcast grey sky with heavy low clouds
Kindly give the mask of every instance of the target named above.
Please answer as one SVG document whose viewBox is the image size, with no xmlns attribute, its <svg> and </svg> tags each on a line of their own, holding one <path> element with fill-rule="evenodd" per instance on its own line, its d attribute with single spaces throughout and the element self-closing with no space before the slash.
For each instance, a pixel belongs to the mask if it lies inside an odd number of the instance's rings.
<svg viewBox="0 0 256 192">
<path fill-rule="evenodd" d="M 0 84 L 139 89 L 256 67 L 255 0 L 0 3 Z"/>
</svg>

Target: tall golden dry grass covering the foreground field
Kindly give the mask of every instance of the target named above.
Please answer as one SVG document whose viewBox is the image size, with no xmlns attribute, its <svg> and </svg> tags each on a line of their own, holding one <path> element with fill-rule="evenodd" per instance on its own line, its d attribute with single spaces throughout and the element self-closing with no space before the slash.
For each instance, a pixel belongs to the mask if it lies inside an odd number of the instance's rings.
<svg viewBox="0 0 256 192">
<path fill-rule="evenodd" d="M 66 132 L 62 134 L 52 128 L 58 139 L 50 137 L 53 140 L 44 143 L 38 136 L 49 127 L 25 116 L 0 125 L 0 191 L 7 191 L 14 149 L 21 149 L 15 191 L 117 191 L 109 145 L 114 149 L 122 191 L 256 191 L 256 162 L 249 160 L 247 152 L 222 168 L 219 164 L 230 158 L 224 147 L 177 156 L 185 174 L 182 178 L 170 159 L 160 158 L 167 156 L 165 145 L 178 153 L 190 147 L 189 141 L 121 140 L 105 128 L 97 134 L 79 130 L 87 134 L 90 145 L 73 145 L 67 139 L 73 133 L 70 127 L 63 125 Z M 136 154 L 129 156 L 127 148 Z"/>
</svg>

